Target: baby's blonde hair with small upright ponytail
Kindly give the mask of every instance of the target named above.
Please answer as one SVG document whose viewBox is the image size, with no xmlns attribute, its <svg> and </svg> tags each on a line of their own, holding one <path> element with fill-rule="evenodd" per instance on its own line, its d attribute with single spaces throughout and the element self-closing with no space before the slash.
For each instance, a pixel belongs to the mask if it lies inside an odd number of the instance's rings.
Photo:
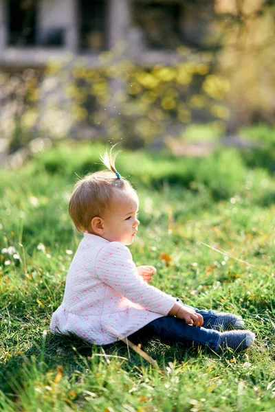
<svg viewBox="0 0 275 412">
<path fill-rule="evenodd" d="M 78 231 L 92 233 L 91 220 L 96 216 L 102 217 L 110 208 L 113 199 L 117 197 L 115 195 L 118 190 L 135 192 L 131 183 L 120 176 L 115 169 L 115 158 L 118 152 L 113 154 L 113 147 L 100 156 L 107 170 L 87 174 L 74 185 L 74 192 L 69 201 L 69 216 Z"/>
</svg>

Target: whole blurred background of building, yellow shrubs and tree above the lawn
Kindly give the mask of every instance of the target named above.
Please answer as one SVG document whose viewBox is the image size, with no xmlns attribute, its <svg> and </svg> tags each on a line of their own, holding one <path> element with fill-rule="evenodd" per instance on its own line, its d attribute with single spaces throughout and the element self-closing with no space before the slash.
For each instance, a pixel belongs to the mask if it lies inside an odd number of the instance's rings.
<svg viewBox="0 0 275 412">
<path fill-rule="evenodd" d="M 275 144 L 273 0 L 0 0 L 0 163 Z"/>
</svg>

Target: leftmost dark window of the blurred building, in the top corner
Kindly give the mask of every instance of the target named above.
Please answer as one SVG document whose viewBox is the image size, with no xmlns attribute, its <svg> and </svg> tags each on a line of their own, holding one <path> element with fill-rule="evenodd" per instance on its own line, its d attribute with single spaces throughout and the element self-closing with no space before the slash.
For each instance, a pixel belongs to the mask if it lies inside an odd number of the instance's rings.
<svg viewBox="0 0 275 412">
<path fill-rule="evenodd" d="M 37 1 L 8 1 L 9 45 L 34 45 L 36 41 Z"/>
</svg>

